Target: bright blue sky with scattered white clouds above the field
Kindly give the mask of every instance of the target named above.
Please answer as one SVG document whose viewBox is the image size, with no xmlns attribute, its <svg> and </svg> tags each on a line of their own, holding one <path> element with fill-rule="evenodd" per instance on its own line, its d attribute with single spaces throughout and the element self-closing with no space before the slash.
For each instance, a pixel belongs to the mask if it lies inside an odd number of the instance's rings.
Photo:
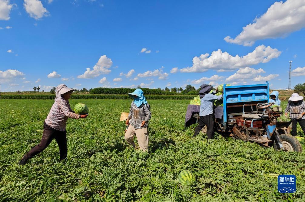
<svg viewBox="0 0 305 202">
<path fill-rule="evenodd" d="M 305 82 L 305 0 L 0 0 L 1 91 Z"/>
</svg>

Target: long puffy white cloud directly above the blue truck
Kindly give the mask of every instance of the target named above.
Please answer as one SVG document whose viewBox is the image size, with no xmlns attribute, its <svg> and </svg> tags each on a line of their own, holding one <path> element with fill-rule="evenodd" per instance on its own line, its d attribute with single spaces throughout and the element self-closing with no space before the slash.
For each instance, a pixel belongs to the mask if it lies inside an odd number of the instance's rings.
<svg viewBox="0 0 305 202">
<path fill-rule="evenodd" d="M 227 52 L 222 52 L 220 49 L 213 51 L 211 56 L 206 53 L 199 57 L 193 58 L 193 66 L 182 68 L 180 72 L 206 72 L 209 69 L 224 72 L 228 70 L 235 70 L 237 68 L 251 66 L 259 63 L 267 63 L 270 60 L 281 55 L 282 51 L 270 46 L 260 45 L 245 56 L 232 56 Z"/>
</svg>

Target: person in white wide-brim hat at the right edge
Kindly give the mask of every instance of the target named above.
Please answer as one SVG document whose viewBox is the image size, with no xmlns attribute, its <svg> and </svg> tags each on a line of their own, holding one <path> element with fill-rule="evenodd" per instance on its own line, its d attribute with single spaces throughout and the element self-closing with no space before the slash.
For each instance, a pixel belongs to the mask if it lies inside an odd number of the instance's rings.
<svg viewBox="0 0 305 202">
<path fill-rule="evenodd" d="M 303 133 L 305 133 L 305 101 L 304 97 L 300 96 L 297 93 L 293 93 L 288 100 L 287 108 L 285 110 L 285 116 L 292 121 L 292 130 L 291 134 L 296 136 L 296 124 L 299 122 Z"/>
</svg>

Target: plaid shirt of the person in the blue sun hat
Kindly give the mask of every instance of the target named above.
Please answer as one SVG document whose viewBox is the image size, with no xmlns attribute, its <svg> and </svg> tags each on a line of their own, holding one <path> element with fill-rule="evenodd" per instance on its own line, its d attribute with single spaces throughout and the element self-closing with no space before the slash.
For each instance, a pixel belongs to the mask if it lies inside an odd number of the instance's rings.
<svg viewBox="0 0 305 202">
<path fill-rule="evenodd" d="M 131 107 L 128 115 L 129 124 L 132 125 L 135 129 L 146 128 L 148 127 L 148 121 L 151 118 L 150 105 L 140 105 L 137 107 L 134 102 L 131 102 Z M 145 121 L 145 125 L 141 127 L 142 122 Z"/>
</svg>

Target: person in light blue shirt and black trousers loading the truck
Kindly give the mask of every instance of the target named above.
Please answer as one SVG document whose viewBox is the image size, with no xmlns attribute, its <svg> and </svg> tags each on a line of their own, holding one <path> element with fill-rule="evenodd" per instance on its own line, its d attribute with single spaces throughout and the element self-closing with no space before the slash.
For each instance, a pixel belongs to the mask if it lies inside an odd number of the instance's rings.
<svg viewBox="0 0 305 202">
<path fill-rule="evenodd" d="M 213 139 L 213 130 L 214 130 L 214 121 L 215 117 L 213 114 L 213 103 L 215 100 L 220 100 L 222 98 L 221 95 L 215 95 L 217 93 L 217 89 L 213 91 L 213 93 L 206 94 L 203 98 L 201 98 L 200 111 L 199 111 L 199 124 L 195 129 L 195 133 L 193 137 L 196 137 L 200 130 L 206 125 L 206 135 L 207 139 Z"/>
</svg>

